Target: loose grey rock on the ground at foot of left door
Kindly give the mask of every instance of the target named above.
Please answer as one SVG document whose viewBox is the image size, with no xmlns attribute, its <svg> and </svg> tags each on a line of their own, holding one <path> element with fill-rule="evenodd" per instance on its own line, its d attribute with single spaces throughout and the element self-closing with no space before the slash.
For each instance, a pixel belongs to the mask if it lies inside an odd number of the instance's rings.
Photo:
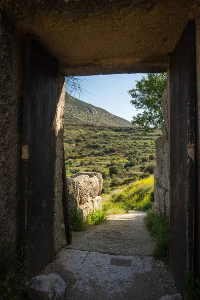
<svg viewBox="0 0 200 300">
<path fill-rule="evenodd" d="M 25 284 L 30 300 L 64 300 L 66 283 L 55 273 L 31 278 Z"/>
</svg>

